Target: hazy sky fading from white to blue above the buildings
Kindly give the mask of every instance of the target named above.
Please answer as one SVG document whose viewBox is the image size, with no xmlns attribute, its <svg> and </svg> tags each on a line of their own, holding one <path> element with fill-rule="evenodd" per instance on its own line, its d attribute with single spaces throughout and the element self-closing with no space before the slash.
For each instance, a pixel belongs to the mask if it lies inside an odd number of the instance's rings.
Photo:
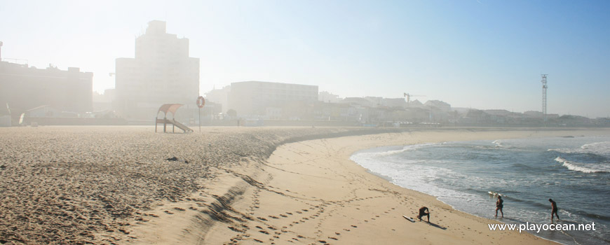
<svg viewBox="0 0 610 245">
<path fill-rule="evenodd" d="M 92 71 L 114 87 L 150 20 L 190 39 L 201 94 L 243 80 L 341 97 L 610 116 L 610 1 L 0 0 L 2 57 Z M 6 60 L 11 61 L 12 60 Z"/>
</svg>

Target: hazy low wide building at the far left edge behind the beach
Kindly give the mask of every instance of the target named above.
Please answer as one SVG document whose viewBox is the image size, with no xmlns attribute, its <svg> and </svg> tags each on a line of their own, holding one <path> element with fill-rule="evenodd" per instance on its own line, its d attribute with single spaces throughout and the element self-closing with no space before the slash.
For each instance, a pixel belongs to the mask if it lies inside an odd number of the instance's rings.
<svg viewBox="0 0 610 245">
<path fill-rule="evenodd" d="M 0 105 L 10 108 L 13 122 L 25 111 L 49 105 L 59 111 L 85 113 L 93 109 L 93 73 L 49 65 L 37 69 L 27 64 L 0 62 Z M 8 109 L 7 109 L 8 112 Z"/>
</svg>

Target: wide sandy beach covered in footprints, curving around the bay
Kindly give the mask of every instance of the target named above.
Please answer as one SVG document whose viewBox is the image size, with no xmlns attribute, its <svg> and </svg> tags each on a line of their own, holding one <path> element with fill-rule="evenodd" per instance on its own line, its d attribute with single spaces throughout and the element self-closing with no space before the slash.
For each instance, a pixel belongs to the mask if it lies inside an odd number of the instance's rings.
<svg viewBox="0 0 610 245">
<path fill-rule="evenodd" d="M 550 244 L 349 160 L 378 146 L 609 130 L 0 128 L 2 244 Z M 431 224 L 412 223 L 421 206 Z"/>
</svg>

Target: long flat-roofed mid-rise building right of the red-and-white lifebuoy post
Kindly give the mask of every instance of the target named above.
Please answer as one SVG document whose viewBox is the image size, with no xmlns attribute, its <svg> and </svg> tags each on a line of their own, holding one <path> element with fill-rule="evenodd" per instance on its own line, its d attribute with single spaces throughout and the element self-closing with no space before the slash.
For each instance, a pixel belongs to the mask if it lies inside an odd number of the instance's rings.
<svg viewBox="0 0 610 245">
<path fill-rule="evenodd" d="M 316 102 L 318 86 L 247 81 L 231 83 L 229 109 L 240 117 L 267 114 L 267 107 L 283 108 L 292 102 Z"/>
</svg>

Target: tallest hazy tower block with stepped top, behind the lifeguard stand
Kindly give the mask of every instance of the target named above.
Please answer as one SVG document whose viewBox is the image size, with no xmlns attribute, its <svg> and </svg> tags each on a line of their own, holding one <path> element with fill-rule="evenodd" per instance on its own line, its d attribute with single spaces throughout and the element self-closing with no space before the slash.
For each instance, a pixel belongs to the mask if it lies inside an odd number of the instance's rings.
<svg viewBox="0 0 610 245">
<path fill-rule="evenodd" d="M 199 59 L 189 57 L 189 39 L 165 31 L 165 22 L 153 20 L 135 39 L 135 58 L 116 59 L 116 101 L 120 116 L 153 120 L 162 104 L 196 107 L 199 95 Z M 192 117 L 190 112 L 179 113 Z"/>
</svg>

